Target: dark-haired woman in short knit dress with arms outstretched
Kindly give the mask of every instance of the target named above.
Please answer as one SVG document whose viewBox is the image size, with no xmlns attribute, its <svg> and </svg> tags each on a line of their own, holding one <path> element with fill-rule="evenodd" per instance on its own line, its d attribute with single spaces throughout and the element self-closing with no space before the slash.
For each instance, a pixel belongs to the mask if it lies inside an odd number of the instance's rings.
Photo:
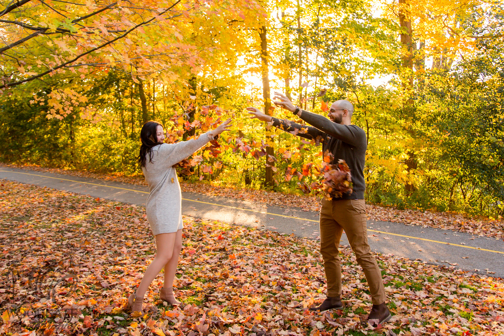
<svg viewBox="0 0 504 336">
<path fill-rule="evenodd" d="M 180 304 L 173 295 L 173 278 L 177 269 L 178 255 L 182 249 L 182 196 L 173 166 L 214 140 L 215 136 L 229 130 L 227 127 L 232 126 L 229 125 L 230 122 L 229 118 L 198 139 L 176 144 L 164 143 L 163 126 L 159 123 L 149 121 L 142 127 L 140 131 L 142 146 L 138 162 L 149 184 L 150 193 L 147 197 L 146 210 L 152 234 L 156 237 L 156 257 L 147 267 L 137 291 L 128 298 L 128 307 L 132 312 L 143 313 L 145 292 L 163 267 L 164 285 L 159 297 L 168 303 Z"/>
</svg>

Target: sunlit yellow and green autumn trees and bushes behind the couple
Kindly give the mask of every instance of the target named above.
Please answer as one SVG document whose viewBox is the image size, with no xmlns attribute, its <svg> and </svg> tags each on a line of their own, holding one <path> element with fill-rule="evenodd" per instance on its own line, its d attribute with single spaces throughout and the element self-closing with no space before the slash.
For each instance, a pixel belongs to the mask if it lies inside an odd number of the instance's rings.
<svg viewBox="0 0 504 336">
<path fill-rule="evenodd" d="M 299 192 L 321 147 L 244 112 L 292 119 L 271 107 L 280 90 L 316 113 L 353 102 L 368 202 L 502 215 L 499 2 L 0 4 L 3 161 L 135 174 L 143 122 L 176 141 L 230 116 L 184 178 Z"/>
</svg>

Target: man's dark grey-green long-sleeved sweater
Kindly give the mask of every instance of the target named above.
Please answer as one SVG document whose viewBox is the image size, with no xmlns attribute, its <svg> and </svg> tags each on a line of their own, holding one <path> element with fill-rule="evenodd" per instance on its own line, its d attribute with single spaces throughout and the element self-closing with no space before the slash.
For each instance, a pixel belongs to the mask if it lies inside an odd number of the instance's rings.
<svg viewBox="0 0 504 336">
<path fill-rule="evenodd" d="M 320 114 L 305 110 L 301 119 L 312 126 L 301 125 L 286 119 L 273 118 L 273 126 L 308 140 L 320 140 L 322 152 L 333 153 L 332 164 L 345 160 L 352 174 L 353 192 L 343 194 L 337 199 L 364 199 L 366 184 L 364 181 L 364 163 L 366 160 L 366 132 L 356 125 L 342 125 Z"/>
</svg>

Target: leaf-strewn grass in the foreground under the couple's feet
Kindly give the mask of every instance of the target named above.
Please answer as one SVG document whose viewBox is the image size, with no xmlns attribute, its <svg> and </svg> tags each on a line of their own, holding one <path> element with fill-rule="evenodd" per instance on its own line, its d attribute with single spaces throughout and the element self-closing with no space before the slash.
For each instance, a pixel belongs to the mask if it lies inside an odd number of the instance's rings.
<svg viewBox="0 0 504 336">
<path fill-rule="evenodd" d="M 504 332 L 504 283 L 455 267 L 377 255 L 393 319 L 360 321 L 371 303 L 361 268 L 341 248 L 345 309 L 305 310 L 325 297 L 316 242 L 184 218 L 179 307 L 123 308 L 154 257 L 145 210 L 0 180 L 0 334 L 490 335 Z"/>
</svg>

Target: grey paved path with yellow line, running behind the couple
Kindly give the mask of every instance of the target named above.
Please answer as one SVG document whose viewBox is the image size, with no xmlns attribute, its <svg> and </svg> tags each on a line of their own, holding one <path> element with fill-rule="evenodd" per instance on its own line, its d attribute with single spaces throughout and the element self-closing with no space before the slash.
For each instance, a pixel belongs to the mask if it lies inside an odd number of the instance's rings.
<svg viewBox="0 0 504 336">
<path fill-rule="evenodd" d="M 148 194 L 148 188 L 143 185 L 17 168 L 0 167 L 0 178 L 139 206 L 145 206 Z M 317 238 L 320 235 L 319 214 L 316 212 L 258 205 L 234 198 L 182 192 L 182 214 L 280 233 L 294 233 L 299 237 Z M 392 222 L 368 221 L 368 228 L 369 244 L 375 251 L 435 264 L 452 264 L 480 274 L 487 274 L 487 269 L 495 272 L 492 276 L 504 278 L 504 242 L 501 240 Z M 348 244 L 345 235 L 341 244 Z"/>
</svg>

